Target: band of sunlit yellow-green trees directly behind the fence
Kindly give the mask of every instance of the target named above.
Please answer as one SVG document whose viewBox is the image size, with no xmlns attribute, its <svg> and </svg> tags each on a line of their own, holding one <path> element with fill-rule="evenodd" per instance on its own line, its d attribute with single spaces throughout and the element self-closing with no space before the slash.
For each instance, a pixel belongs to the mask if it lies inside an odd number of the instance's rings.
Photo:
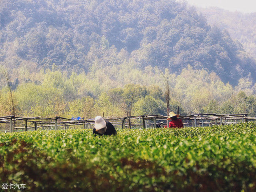
<svg viewBox="0 0 256 192">
<path fill-rule="evenodd" d="M 84 72 L 72 72 L 69 76 L 67 71 L 52 69 L 30 73 L 26 68 L 21 75 L 26 83 L 19 84 L 17 80 L 12 84 L 15 113 L 68 118 L 92 118 L 103 113 L 104 116 L 166 114 L 166 79 L 170 85 L 170 110 L 176 111 L 179 106 L 183 115 L 256 114 L 256 85 L 249 78 L 240 79 L 233 88 L 224 84 L 216 73 L 194 70 L 192 66 L 183 69 L 180 75 L 168 70 L 162 73 L 157 67 L 148 67 L 145 73 L 126 65 L 120 67 L 120 72 L 124 73 L 112 74 L 116 75 L 113 82 L 100 70 L 93 76 Z M 124 86 L 116 82 L 123 82 Z M 12 112 L 6 87 L 0 92 L 0 116 Z"/>
</svg>

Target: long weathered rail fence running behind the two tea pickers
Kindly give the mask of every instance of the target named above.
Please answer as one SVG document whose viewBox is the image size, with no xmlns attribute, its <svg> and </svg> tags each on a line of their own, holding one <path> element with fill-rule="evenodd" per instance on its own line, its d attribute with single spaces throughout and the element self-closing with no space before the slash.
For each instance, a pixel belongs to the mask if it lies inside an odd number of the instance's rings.
<svg viewBox="0 0 256 192">
<path fill-rule="evenodd" d="M 143 128 L 148 127 L 161 127 L 168 125 L 168 116 L 163 115 L 142 115 L 142 116 L 126 116 L 126 117 L 103 117 L 104 120 L 110 121 L 115 126 L 121 128 L 132 128 L 140 126 Z M 179 117 L 184 126 L 212 126 L 212 125 L 229 125 L 238 124 L 241 122 L 256 121 L 256 116 L 248 116 L 248 114 L 190 114 L 187 116 Z M 16 117 L 4 116 L 0 117 L 0 127 L 2 124 L 5 127 L 9 124 L 8 130 L 5 132 L 15 131 L 28 131 L 37 129 L 58 130 L 68 129 L 70 126 L 82 126 L 82 128 L 92 128 L 94 119 L 75 120 L 63 117 L 41 118 L 41 117 Z"/>
</svg>

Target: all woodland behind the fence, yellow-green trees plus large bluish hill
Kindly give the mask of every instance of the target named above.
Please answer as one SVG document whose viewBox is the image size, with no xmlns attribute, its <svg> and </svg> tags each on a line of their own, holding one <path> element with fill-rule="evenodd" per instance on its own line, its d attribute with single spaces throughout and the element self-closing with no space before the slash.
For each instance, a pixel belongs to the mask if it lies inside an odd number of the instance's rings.
<svg viewBox="0 0 256 192">
<path fill-rule="evenodd" d="M 256 62 L 174 0 L 3 0 L 0 116 L 256 114 Z"/>
</svg>

